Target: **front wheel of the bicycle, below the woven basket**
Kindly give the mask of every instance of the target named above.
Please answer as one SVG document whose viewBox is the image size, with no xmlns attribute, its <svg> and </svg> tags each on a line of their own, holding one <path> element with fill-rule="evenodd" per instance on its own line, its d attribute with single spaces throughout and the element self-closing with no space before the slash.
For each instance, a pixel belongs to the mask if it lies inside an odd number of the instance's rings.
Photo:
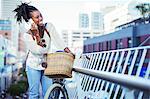
<svg viewBox="0 0 150 99">
<path fill-rule="evenodd" d="M 69 99 L 67 90 L 59 83 L 54 83 L 48 88 L 44 99 Z"/>
</svg>

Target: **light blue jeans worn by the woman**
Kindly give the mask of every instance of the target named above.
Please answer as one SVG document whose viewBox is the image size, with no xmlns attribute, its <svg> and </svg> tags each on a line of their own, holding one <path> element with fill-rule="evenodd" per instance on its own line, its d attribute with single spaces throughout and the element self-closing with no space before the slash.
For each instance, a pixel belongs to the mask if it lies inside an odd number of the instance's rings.
<svg viewBox="0 0 150 99">
<path fill-rule="evenodd" d="M 29 99 L 40 98 L 40 84 L 42 86 L 42 95 L 44 97 L 49 86 L 52 85 L 52 79 L 44 75 L 43 70 L 35 70 L 26 66 L 26 73 L 29 83 Z"/>
</svg>

